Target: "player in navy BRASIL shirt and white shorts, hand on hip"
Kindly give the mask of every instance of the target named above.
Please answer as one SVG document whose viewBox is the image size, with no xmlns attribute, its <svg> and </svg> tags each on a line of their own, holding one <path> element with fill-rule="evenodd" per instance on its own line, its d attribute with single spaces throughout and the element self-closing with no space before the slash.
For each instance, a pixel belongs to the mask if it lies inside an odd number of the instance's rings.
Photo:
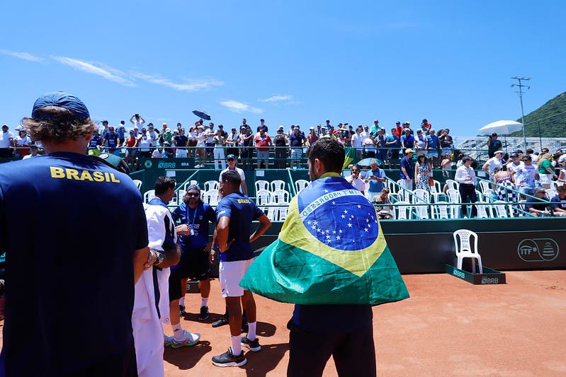
<svg viewBox="0 0 566 377">
<path fill-rule="evenodd" d="M 251 243 L 271 226 L 271 221 L 261 209 L 246 195 L 239 191 L 241 184 L 239 173 L 228 170 L 222 174 L 220 192 L 222 200 L 216 207 L 217 227 L 215 240 L 220 252 L 220 288 L 226 300 L 229 314 L 232 347 L 224 354 L 213 356 L 215 366 L 242 366 L 247 359 L 242 346 L 253 352 L 261 349 L 256 337 L 256 303 L 250 291 L 239 286 L 249 265 L 254 258 Z M 259 227 L 251 233 L 251 221 L 258 220 Z M 251 236 L 250 236 L 251 234 Z M 211 258 L 215 257 L 211 250 Z M 242 337 L 242 307 L 247 313 L 249 331 Z"/>
</svg>

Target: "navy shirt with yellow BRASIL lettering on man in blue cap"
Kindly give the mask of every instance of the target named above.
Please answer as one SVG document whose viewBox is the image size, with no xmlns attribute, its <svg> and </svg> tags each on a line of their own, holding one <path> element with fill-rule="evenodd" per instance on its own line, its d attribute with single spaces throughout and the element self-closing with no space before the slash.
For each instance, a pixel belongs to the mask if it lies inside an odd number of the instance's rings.
<svg viewBox="0 0 566 377">
<path fill-rule="evenodd" d="M 80 373 L 132 347 L 133 255 L 147 244 L 142 196 L 128 175 L 77 153 L 3 163 L 0 375 Z M 69 331 L 79 343 L 69 344 Z"/>
</svg>

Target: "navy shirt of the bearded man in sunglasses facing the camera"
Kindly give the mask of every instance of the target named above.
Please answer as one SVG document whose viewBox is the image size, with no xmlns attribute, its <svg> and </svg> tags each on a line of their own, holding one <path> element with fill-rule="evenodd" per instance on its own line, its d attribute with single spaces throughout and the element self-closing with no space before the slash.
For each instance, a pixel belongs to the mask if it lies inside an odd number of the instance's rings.
<svg viewBox="0 0 566 377">
<path fill-rule="evenodd" d="M 187 224 L 193 229 L 193 235 L 179 235 L 179 246 L 183 253 L 200 252 L 208 243 L 208 222 L 216 223 L 216 214 L 213 207 L 200 203 L 195 209 L 181 204 L 173 211 L 173 219 L 179 224 Z"/>
</svg>

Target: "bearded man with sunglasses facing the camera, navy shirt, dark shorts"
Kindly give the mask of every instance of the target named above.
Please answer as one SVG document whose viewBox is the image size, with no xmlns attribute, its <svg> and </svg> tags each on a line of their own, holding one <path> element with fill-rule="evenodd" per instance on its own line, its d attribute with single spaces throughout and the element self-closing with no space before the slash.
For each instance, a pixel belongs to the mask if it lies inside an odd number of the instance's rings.
<svg viewBox="0 0 566 377">
<path fill-rule="evenodd" d="M 216 213 L 213 207 L 200 200 L 198 185 L 188 187 L 183 204 L 173 211 L 173 219 L 180 224 L 187 224 L 188 235 L 179 236 L 181 261 L 171 267 L 169 277 L 169 300 L 177 301 L 181 315 L 185 311 L 185 293 L 187 279 L 198 279 L 200 289 L 199 320 L 208 319 L 208 295 L 210 294 L 210 245 L 208 241 L 208 223 L 216 224 Z M 179 285 L 179 282 L 181 284 Z M 179 300 L 181 298 L 181 300 Z M 171 313 L 174 305 L 171 304 Z"/>
</svg>

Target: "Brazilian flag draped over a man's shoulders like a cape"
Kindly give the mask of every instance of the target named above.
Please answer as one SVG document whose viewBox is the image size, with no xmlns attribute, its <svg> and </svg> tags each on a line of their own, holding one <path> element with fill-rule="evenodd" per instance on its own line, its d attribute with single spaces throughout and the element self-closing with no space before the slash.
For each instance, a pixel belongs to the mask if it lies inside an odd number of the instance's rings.
<svg viewBox="0 0 566 377">
<path fill-rule="evenodd" d="M 278 239 L 240 285 L 305 305 L 379 305 L 409 297 L 373 204 L 334 173 L 293 198 Z"/>
</svg>

